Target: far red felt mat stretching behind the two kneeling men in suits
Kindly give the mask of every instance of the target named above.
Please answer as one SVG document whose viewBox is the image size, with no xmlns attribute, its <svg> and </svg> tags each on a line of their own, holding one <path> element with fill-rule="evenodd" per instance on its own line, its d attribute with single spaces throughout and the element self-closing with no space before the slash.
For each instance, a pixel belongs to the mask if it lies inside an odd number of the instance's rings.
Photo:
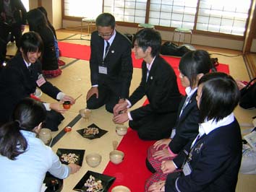
<svg viewBox="0 0 256 192">
<path fill-rule="evenodd" d="M 69 58 L 78 58 L 78 59 L 83 59 L 83 60 L 90 60 L 90 46 L 88 45 L 80 45 L 80 44 L 74 44 L 74 43 L 64 43 L 64 42 L 59 42 L 59 49 L 61 50 L 61 56 L 64 57 L 69 57 Z M 162 56 L 168 64 L 171 64 L 173 67 L 177 77 L 179 75 L 179 60 L 180 58 L 178 57 L 173 57 L 173 56 Z M 135 59 L 134 53 L 132 53 L 132 64 L 133 67 L 135 68 L 141 68 L 142 64 L 142 58 L 141 59 Z M 226 64 L 219 64 L 217 66 L 218 71 L 223 71 L 225 73 L 229 74 L 229 66 Z M 178 86 L 179 86 L 179 91 L 184 95 L 184 87 L 182 87 L 182 83 L 180 82 L 180 79 L 177 78 Z"/>
</svg>

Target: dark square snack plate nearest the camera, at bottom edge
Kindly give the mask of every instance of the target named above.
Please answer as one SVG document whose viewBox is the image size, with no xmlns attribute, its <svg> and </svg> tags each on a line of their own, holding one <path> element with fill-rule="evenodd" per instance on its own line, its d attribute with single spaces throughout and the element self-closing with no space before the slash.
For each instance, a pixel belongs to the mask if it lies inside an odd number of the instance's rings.
<svg viewBox="0 0 256 192">
<path fill-rule="evenodd" d="M 108 188 L 114 183 L 116 178 L 95 173 L 88 170 L 82 179 L 74 186 L 74 191 L 108 192 Z"/>
</svg>

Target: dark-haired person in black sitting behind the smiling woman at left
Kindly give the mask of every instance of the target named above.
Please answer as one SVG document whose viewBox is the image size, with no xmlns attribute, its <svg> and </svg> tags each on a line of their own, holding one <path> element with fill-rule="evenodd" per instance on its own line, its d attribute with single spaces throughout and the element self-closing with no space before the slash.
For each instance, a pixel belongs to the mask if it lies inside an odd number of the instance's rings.
<svg viewBox="0 0 256 192">
<path fill-rule="evenodd" d="M 30 31 L 38 32 L 43 40 L 42 69 L 46 78 L 54 78 L 61 75 L 58 58 L 54 46 L 54 32 L 48 27 L 46 15 L 39 9 L 27 12 L 27 22 Z"/>
</svg>

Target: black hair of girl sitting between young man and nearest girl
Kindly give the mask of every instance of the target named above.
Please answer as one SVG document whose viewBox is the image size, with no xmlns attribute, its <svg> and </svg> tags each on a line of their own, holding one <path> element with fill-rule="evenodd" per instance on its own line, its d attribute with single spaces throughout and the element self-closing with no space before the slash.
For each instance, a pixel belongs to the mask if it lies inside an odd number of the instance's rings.
<svg viewBox="0 0 256 192">
<path fill-rule="evenodd" d="M 179 61 L 179 71 L 189 79 L 190 87 L 197 83 L 197 74 L 207 74 L 212 67 L 207 51 L 189 51 Z"/>
</svg>

